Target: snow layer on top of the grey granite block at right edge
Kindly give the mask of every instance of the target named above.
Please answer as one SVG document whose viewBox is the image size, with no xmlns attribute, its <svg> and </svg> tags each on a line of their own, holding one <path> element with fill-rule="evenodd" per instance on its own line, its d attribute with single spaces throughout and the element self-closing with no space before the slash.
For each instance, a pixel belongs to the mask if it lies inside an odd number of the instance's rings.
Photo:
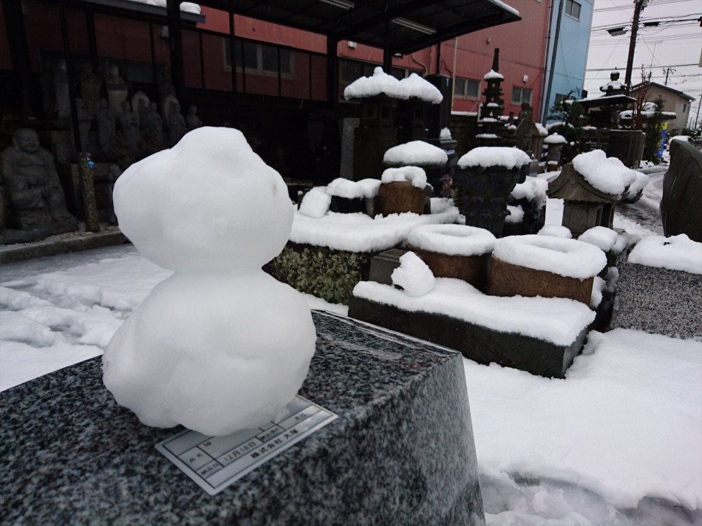
<svg viewBox="0 0 702 526">
<path fill-rule="evenodd" d="M 687 234 L 648 236 L 631 250 L 628 262 L 702 274 L 702 243 L 692 241 Z"/>
</svg>

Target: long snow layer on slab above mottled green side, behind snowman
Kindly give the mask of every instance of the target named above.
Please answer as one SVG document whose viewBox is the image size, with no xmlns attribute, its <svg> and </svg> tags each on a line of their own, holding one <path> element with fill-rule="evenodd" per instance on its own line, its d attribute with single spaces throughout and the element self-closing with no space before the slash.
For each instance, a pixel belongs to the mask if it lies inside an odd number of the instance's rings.
<svg viewBox="0 0 702 526">
<path fill-rule="evenodd" d="M 422 224 L 455 223 L 458 210 L 450 200 L 434 201 L 443 204 L 441 211 L 417 215 L 414 213 L 391 214 L 387 217 L 366 214 L 338 214 L 330 212 L 321 219 L 312 219 L 296 213 L 290 232 L 293 243 L 309 243 L 350 252 L 380 252 L 390 250 L 407 239 L 411 229 Z"/>
</svg>

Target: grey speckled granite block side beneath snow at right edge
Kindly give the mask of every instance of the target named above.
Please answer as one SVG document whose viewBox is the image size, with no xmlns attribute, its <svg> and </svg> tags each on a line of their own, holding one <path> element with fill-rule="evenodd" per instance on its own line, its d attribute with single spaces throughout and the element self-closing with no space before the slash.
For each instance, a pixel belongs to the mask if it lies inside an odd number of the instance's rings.
<svg viewBox="0 0 702 526">
<path fill-rule="evenodd" d="M 702 275 L 625 262 L 619 267 L 610 328 L 702 337 Z"/>
</svg>

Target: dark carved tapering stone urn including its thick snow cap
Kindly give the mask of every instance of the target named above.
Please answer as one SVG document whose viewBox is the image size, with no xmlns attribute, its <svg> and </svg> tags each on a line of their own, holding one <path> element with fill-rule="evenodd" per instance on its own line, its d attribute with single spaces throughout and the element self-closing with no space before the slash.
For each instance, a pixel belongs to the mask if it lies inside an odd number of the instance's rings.
<svg viewBox="0 0 702 526">
<path fill-rule="evenodd" d="M 510 194 L 526 180 L 522 168 L 529 161 L 524 151 L 508 147 L 478 147 L 458 159 L 452 180 L 465 224 L 500 236 Z"/>
</svg>

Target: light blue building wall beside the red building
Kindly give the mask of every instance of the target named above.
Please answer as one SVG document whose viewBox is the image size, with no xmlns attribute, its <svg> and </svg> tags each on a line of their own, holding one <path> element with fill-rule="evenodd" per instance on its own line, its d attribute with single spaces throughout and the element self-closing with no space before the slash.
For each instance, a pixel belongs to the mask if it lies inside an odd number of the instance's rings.
<svg viewBox="0 0 702 526">
<path fill-rule="evenodd" d="M 552 14 L 550 25 L 550 38 L 548 60 L 546 62 L 544 97 L 545 107 L 541 108 L 541 115 L 548 115 L 557 95 L 568 95 L 579 99 L 583 97 L 585 85 L 585 67 L 588 63 L 588 47 L 590 46 L 590 27 L 592 26 L 592 8 L 594 0 L 577 0 L 580 4 L 578 20 L 567 14 L 568 0 L 550 0 Z M 561 23 L 557 41 L 557 55 L 553 69 L 551 68 L 553 48 L 556 43 L 556 29 L 559 15 L 559 4 L 562 2 Z M 550 93 L 547 93 L 550 82 Z M 547 119 L 544 119 L 546 121 Z"/>
</svg>

